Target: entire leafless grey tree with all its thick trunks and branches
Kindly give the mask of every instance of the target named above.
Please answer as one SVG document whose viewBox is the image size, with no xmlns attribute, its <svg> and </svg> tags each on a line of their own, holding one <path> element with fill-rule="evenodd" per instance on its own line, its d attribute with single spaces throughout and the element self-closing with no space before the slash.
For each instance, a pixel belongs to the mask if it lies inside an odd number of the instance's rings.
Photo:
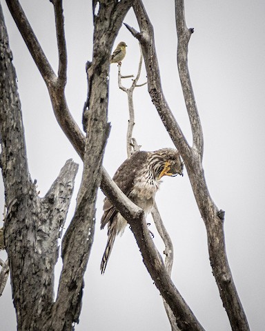
<svg viewBox="0 0 265 331">
<path fill-rule="evenodd" d="M 183 0 L 175 1 L 178 37 L 177 63 L 186 108 L 193 132 L 189 146 L 161 89 L 155 52 L 153 26 L 141 0 L 92 1 L 94 38 L 92 61 L 86 65 L 88 96 L 81 131 L 66 102 L 67 52 L 62 0 L 51 0 L 55 9 L 59 68 L 52 70 L 18 0 L 6 0 L 32 58 L 46 83 L 52 108 L 72 146 L 84 161 L 84 172 L 75 214 L 62 239 L 61 270 L 57 298 L 53 298 L 54 269 L 58 258 L 58 238 L 66 220 L 77 165 L 67 161 L 46 196 L 39 198 L 30 179 L 21 118 L 21 104 L 8 34 L 1 10 L 0 22 L 0 130 L 1 168 L 6 194 L 4 239 L 12 283 L 18 330 L 73 330 L 81 311 L 84 272 L 95 228 L 95 203 L 100 187 L 130 224 L 144 264 L 161 296 L 170 308 L 173 330 L 204 330 L 172 279 L 170 265 L 164 263 L 150 237 L 143 211 L 128 200 L 102 167 L 109 133 L 108 75 L 110 51 L 124 17 L 133 6 L 139 32 L 127 28 L 139 40 L 146 66 L 148 92 L 170 138 L 184 159 L 195 199 L 206 225 L 210 264 L 232 330 L 249 330 L 226 257 L 224 212 L 211 199 L 204 178 L 204 140 L 188 73 L 188 41 L 193 29 L 186 27 Z M 99 6 L 96 11 L 96 6 Z M 130 152 L 130 151 L 128 151 Z M 153 216 L 159 217 L 157 211 Z M 161 229 L 161 232 L 164 230 Z M 170 243 L 170 241 L 168 241 Z M 6 279 L 6 263 L 3 277 Z M 174 321 L 172 321 L 174 317 Z"/>
</svg>

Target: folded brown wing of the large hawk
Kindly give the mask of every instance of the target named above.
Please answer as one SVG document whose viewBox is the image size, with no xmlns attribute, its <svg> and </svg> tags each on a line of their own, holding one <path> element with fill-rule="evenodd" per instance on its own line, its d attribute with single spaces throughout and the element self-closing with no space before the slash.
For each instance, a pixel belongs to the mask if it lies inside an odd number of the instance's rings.
<svg viewBox="0 0 265 331">
<path fill-rule="evenodd" d="M 144 163 L 146 163 L 146 159 L 148 156 L 148 152 L 139 151 L 135 152 L 130 159 L 126 159 L 124 163 L 122 163 L 118 170 L 115 172 L 113 176 L 113 180 L 119 186 L 122 192 L 128 195 L 130 194 L 133 184 L 135 182 L 135 177 L 139 173 L 139 170 L 143 168 Z M 112 205 L 112 203 L 108 200 L 108 198 L 104 199 L 103 205 L 104 214 L 101 218 L 101 229 L 113 219 L 117 210 Z"/>
</svg>

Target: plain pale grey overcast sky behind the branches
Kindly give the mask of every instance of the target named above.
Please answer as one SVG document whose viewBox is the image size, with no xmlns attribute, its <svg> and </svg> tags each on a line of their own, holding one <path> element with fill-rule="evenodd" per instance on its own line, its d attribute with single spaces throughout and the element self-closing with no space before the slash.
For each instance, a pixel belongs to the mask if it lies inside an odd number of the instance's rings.
<svg viewBox="0 0 265 331">
<path fill-rule="evenodd" d="M 17 27 L 1 1 L 17 70 L 28 162 L 41 196 L 67 159 L 79 163 L 75 192 L 81 179 L 81 160 L 59 128 L 46 86 L 24 45 Z M 57 48 L 52 4 L 21 1 L 23 9 L 57 71 Z M 190 141 L 190 126 L 176 66 L 174 1 L 145 0 L 155 28 L 157 56 L 163 90 L 171 110 Z M 68 106 L 81 126 L 86 100 L 85 63 L 92 59 L 90 1 L 64 1 L 68 47 Z M 195 28 L 189 44 L 189 68 L 204 130 L 204 170 L 208 188 L 218 208 L 226 211 L 228 261 L 252 331 L 263 330 L 265 300 L 264 263 L 264 77 L 265 3 L 263 0 L 186 1 L 186 22 Z M 137 27 L 133 11 L 125 22 Z M 122 74 L 136 74 L 139 46 L 123 26 L 115 42 L 126 41 Z M 145 72 L 141 82 L 145 81 Z M 129 86 L 130 79 L 124 82 Z M 134 94 L 133 136 L 142 150 L 173 147 L 147 86 Z M 117 86 L 117 66 L 110 70 L 109 121 L 112 129 L 104 166 L 113 175 L 126 159 L 126 94 Z M 3 185 L 0 188 L 3 210 Z M 76 197 L 76 195 L 75 195 Z M 75 209 L 72 199 L 68 219 Z M 99 192 L 95 242 L 85 276 L 83 308 L 77 331 L 169 331 L 170 325 L 159 292 L 141 261 L 133 234 L 127 228 L 117 238 L 104 276 L 99 265 L 106 245 L 106 229 L 99 230 L 102 200 Z M 208 259 L 206 230 L 190 188 L 188 175 L 166 178 L 157 194 L 157 205 L 173 239 L 173 281 L 206 330 L 230 330 L 228 318 Z M 148 221 L 152 221 L 149 219 Z M 155 232 L 153 223 L 150 230 Z M 163 245 L 155 233 L 155 243 Z M 1 259 L 6 252 L 0 253 Z M 59 275 L 57 268 L 57 281 Z M 1 330 L 15 330 L 10 281 L 0 298 Z"/>
</svg>

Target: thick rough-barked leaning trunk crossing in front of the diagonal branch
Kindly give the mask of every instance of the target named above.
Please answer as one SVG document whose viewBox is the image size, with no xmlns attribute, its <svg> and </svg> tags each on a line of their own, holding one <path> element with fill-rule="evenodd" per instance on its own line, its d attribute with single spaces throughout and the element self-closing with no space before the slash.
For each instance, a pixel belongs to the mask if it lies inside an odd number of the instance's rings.
<svg viewBox="0 0 265 331">
<path fill-rule="evenodd" d="M 87 132 L 84 172 L 75 215 L 63 237 L 63 270 L 57 300 L 52 308 L 51 323 L 46 324 L 47 330 L 68 329 L 73 321 L 79 320 L 83 277 L 94 237 L 95 203 L 101 182 L 101 164 L 110 129 L 107 122 L 110 50 L 130 6 L 131 1 L 112 1 L 108 6 L 99 6 L 99 12 L 94 14 L 94 48 L 92 62 L 87 66 L 88 99 L 84 109 L 84 126 Z"/>
</svg>

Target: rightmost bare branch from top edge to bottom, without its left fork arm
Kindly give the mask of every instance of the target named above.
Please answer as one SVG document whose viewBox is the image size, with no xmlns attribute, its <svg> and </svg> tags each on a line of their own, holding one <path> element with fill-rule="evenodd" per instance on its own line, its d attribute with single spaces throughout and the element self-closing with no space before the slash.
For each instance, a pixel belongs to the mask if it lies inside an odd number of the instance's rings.
<svg viewBox="0 0 265 331">
<path fill-rule="evenodd" d="M 193 30 L 186 28 L 184 0 L 175 0 L 175 11 L 178 34 L 177 62 L 179 66 L 179 77 L 181 78 L 184 98 L 190 117 L 190 125 L 193 130 L 194 144 L 193 158 L 190 162 L 186 163 L 186 168 L 199 211 L 206 225 L 210 264 L 219 288 L 220 297 L 230 320 L 230 325 L 233 330 L 249 330 L 248 321 L 237 294 L 226 256 L 224 211 L 218 210 L 213 199 L 211 199 L 202 168 L 202 127 L 188 74 L 188 41 Z"/>
</svg>

